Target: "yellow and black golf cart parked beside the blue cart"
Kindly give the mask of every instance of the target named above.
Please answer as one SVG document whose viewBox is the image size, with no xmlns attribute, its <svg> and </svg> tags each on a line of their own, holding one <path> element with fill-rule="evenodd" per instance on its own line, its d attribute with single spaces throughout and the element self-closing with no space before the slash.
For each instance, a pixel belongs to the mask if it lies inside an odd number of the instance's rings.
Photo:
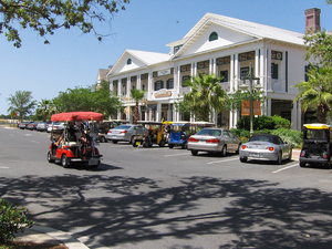
<svg viewBox="0 0 332 249">
<path fill-rule="evenodd" d="M 155 121 L 138 121 L 137 124 L 145 126 L 148 131 L 143 135 L 137 135 L 133 138 L 133 146 L 137 147 L 143 145 L 143 147 L 152 147 L 153 144 L 164 147 L 167 139 L 164 134 L 164 124 L 162 122 Z"/>
</svg>

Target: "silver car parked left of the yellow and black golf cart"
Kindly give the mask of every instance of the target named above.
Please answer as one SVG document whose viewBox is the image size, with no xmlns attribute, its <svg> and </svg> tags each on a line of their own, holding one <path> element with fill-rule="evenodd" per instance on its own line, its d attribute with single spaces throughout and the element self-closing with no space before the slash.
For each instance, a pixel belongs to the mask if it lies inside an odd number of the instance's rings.
<svg viewBox="0 0 332 249">
<path fill-rule="evenodd" d="M 127 141 L 132 144 L 134 136 L 144 134 L 145 132 L 147 132 L 147 129 L 142 125 L 118 125 L 108 131 L 107 141 L 112 141 L 113 144 L 116 144 L 118 141 Z"/>
</svg>

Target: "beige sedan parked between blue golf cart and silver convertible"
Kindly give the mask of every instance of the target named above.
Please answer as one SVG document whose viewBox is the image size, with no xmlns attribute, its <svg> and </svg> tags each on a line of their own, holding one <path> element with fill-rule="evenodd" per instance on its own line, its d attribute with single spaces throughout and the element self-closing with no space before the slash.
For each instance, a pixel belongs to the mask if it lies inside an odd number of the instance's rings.
<svg viewBox="0 0 332 249">
<path fill-rule="evenodd" d="M 228 129 L 203 128 L 188 139 L 187 148 L 196 156 L 198 152 L 219 153 L 239 152 L 241 142 Z"/>
</svg>

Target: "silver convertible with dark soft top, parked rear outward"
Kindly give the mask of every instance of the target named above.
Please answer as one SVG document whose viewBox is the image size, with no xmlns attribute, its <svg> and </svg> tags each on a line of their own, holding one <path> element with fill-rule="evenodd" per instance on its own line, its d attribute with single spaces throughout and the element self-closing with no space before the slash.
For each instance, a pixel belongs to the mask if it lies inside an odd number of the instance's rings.
<svg viewBox="0 0 332 249">
<path fill-rule="evenodd" d="M 262 159 L 281 164 L 283 159 L 292 158 L 292 147 L 279 136 L 256 134 L 248 143 L 241 145 L 239 157 L 241 163 L 247 163 L 248 159 Z"/>
</svg>

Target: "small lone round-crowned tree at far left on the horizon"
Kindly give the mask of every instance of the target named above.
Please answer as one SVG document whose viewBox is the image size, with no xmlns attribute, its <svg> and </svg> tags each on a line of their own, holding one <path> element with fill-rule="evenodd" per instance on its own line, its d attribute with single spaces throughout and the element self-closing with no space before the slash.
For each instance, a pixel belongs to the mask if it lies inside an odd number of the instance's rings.
<svg viewBox="0 0 332 249">
<path fill-rule="evenodd" d="M 9 102 L 9 113 L 15 112 L 20 117 L 20 121 L 23 121 L 23 117 L 27 114 L 31 114 L 37 102 L 32 100 L 31 92 L 29 91 L 17 91 L 14 95 L 10 94 L 7 98 Z"/>
</svg>

